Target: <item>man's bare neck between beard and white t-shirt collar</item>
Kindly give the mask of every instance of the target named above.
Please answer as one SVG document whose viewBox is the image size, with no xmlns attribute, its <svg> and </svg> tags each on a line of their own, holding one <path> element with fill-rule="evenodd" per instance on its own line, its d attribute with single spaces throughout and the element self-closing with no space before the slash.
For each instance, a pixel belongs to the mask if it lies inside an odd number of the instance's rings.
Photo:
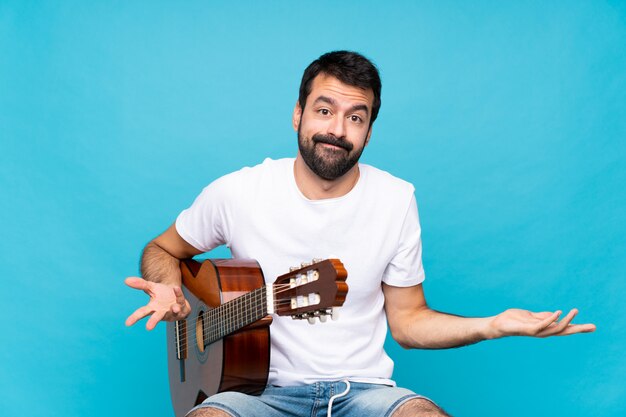
<svg viewBox="0 0 626 417">
<path fill-rule="evenodd" d="M 337 198 L 350 192 L 359 180 L 359 164 L 355 164 L 348 172 L 334 180 L 326 180 L 311 171 L 304 162 L 300 152 L 296 156 L 293 174 L 298 189 L 309 200 Z"/>
</svg>

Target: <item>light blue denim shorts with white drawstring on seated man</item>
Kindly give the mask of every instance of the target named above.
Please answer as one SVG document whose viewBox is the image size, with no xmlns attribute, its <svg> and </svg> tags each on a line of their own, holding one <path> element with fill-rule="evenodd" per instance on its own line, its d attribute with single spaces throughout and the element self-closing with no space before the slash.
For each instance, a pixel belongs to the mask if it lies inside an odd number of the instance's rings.
<svg viewBox="0 0 626 417">
<path fill-rule="evenodd" d="M 221 392 L 194 410 L 213 407 L 233 417 L 388 417 L 411 398 L 425 397 L 405 388 L 328 381 L 291 387 L 268 386 L 259 396 Z M 328 414 L 329 409 L 332 414 Z"/>
</svg>

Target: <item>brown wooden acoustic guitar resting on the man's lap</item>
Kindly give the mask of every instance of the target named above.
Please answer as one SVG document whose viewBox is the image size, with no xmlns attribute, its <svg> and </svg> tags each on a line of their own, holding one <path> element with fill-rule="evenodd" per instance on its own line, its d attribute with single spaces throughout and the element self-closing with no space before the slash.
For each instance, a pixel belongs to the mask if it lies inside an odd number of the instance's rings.
<svg viewBox="0 0 626 417">
<path fill-rule="evenodd" d="M 265 285 L 251 259 L 184 260 L 181 274 L 191 313 L 167 324 L 177 417 L 217 392 L 260 394 L 269 372 L 271 315 L 326 321 L 348 293 L 348 274 L 337 259 L 292 268 L 273 285 Z"/>
</svg>

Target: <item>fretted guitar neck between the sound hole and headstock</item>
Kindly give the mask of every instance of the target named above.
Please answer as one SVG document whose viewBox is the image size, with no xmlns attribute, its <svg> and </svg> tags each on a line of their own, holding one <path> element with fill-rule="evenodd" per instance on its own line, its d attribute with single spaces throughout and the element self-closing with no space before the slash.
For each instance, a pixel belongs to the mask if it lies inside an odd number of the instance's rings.
<svg viewBox="0 0 626 417">
<path fill-rule="evenodd" d="M 272 287 L 269 288 L 271 293 Z M 268 298 L 268 287 L 263 286 L 207 311 L 203 320 L 205 345 L 271 314 L 273 308 L 268 309 L 268 305 L 271 297 Z"/>
</svg>

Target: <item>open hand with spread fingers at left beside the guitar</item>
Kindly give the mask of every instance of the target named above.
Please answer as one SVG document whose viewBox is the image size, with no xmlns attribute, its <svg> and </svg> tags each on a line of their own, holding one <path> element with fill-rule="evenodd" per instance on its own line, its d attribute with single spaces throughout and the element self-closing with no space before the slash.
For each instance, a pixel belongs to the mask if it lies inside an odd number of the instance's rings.
<svg viewBox="0 0 626 417">
<path fill-rule="evenodd" d="M 126 319 L 127 326 L 132 326 L 142 318 L 150 316 L 146 323 L 146 329 L 152 330 L 161 320 L 182 320 L 191 312 L 189 302 L 185 299 L 179 286 L 146 281 L 139 277 L 129 277 L 124 282 L 129 287 L 142 290 L 150 296 L 148 304 L 138 308 L 128 316 Z"/>
</svg>

